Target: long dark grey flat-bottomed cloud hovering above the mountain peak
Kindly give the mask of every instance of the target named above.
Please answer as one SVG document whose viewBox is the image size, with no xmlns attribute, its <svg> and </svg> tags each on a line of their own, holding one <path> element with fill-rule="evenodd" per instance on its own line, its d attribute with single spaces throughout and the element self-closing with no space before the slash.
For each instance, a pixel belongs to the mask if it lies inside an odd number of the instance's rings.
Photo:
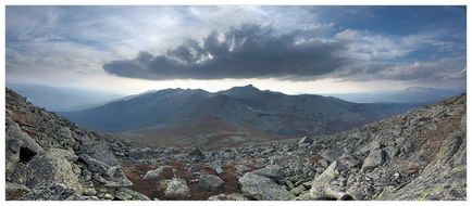
<svg viewBox="0 0 472 206">
<path fill-rule="evenodd" d="M 140 52 L 134 60 L 112 61 L 105 72 L 142 79 L 290 78 L 330 74 L 350 63 L 340 55 L 344 41 L 276 34 L 270 27 L 244 25 L 216 31 L 202 43 L 188 40 L 165 55 Z"/>
</svg>

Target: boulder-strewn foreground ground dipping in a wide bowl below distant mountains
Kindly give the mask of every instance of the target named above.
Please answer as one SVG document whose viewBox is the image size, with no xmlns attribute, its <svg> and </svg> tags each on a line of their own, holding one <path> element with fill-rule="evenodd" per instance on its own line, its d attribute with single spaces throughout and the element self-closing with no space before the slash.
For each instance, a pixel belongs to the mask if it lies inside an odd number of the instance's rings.
<svg viewBox="0 0 472 206">
<path fill-rule="evenodd" d="M 7 199 L 465 199 L 465 102 L 331 136 L 142 147 L 7 90 Z"/>
</svg>

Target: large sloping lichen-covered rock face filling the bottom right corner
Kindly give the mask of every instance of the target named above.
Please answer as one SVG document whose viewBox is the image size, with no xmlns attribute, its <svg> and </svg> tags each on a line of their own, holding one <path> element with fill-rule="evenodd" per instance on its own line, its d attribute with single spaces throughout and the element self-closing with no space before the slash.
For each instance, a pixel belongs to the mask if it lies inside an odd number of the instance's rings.
<svg viewBox="0 0 472 206">
<path fill-rule="evenodd" d="M 443 141 L 439 152 L 421 172 L 406 185 L 388 188 L 380 199 L 451 201 L 467 197 L 467 116 L 460 129 Z"/>
</svg>

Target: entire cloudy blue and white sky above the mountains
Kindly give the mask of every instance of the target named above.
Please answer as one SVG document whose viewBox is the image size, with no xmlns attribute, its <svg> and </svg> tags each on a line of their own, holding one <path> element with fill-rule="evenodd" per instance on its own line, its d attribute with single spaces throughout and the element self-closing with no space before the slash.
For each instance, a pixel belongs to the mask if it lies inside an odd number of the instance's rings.
<svg viewBox="0 0 472 206">
<path fill-rule="evenodd" d="M 7 82 L 138 93 L 465 87 L 465 7 L 7 7 Z"/>
</svg>

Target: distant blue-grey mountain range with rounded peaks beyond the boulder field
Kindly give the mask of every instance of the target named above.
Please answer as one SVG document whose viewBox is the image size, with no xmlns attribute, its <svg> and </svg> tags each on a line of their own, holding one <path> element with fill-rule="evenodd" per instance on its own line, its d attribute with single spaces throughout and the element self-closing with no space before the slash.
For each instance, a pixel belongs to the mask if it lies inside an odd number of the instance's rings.
<svg viewBox="0 0 472 206">
<path fill-rule="evenodd" d="M 157 143 L 194 145 L 198 144 L 191 141 L 195 137 L 201 137 L 203 142 L 231 137 L 253 141 L 263 137 L 334 132 L 415 106 L 418 104 L 358 104 L 321 95 L 286 95 L 246 86 L 216 93 L 166 89 L 61 115 L 101 131 L 141 137 L 141 141 L 149 143 L 172 137 L 172 141 Z M 222 127 L 216 131 L 196 129 L 204 128 L 202 125 Z"/>
</svg>

